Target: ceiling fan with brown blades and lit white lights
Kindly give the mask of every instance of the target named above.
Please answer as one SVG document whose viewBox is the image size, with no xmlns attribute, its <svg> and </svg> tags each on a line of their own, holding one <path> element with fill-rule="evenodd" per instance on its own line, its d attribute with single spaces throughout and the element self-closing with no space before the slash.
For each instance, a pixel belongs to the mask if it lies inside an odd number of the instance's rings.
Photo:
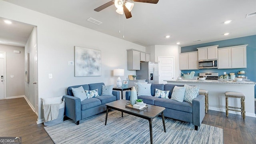
<svg viewBox="0 0 256 144">
<path fill-rule="evenodd" d="M 131 10 L 134 6 L 133 3 L 127 2 L 128 0 L 111 0 L 110 2 L 107 2 L 106 4 L 103 4 L 102 6 L 99 6 L 98 8 L 95 8 L 94 10 L 96 12 L 99 12 L 111 5 L 115 5 L 117 10 L 116 12 L 118 14 L 125 14 L 126 18 L 131 18 Z M 132 2 L 146 2 L 146 3 L 151 3 L 151 4 L 157 4 L 158 0 L 130 0 Z"/>
</svg>

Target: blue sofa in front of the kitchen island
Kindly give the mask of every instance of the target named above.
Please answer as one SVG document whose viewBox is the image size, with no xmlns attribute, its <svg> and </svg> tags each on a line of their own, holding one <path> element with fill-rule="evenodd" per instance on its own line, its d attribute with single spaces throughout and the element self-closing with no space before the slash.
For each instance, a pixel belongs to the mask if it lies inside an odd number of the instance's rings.
<svg viewBox="0 0 256 144">
<path fill-rule="evenodd" d="M 193 99 L 192 104 L 189 102 L 178 102 L 170 99 L 172 96 L 173 84 L 151 84 L 151 96 L 138 96 L 138 99 L 143 99 L 144 103 L 155 106 L 162 106 L 164 110 L 164 116 L 173 118 L 176 120 L 182 120 L 190 122 L 195 126 L 195 130 L 198 130 L 198 126 L 201 125 L 205 115 L 205 98 L 204 95 L 198 95 Z M 159 90 L 170 90 L 169 99 L 155 97 L 156 88 Z M 130 100 L 130 91 L 126 91 L 126 100 Z"/>
</svg>

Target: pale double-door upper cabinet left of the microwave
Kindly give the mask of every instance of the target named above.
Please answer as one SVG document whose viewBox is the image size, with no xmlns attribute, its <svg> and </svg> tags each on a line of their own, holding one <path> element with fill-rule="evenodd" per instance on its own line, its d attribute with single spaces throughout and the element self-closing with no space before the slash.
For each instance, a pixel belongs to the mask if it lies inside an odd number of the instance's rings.
<svg viewBox="0 0 256 144">
<path fill-rule="evenodd" d="M 184 52 L 180 54 L 180 70 L 197 70 L 198 52 Z"/>
</svg>

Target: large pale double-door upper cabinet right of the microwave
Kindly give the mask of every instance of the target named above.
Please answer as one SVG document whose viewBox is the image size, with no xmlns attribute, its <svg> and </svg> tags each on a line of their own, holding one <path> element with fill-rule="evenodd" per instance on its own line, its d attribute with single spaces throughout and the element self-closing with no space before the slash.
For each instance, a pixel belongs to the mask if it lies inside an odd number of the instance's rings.
<svg viewBox="0 0 256 144">
<path fill-rule="evenodd" d="M 218 48 L 218 69 L 246 68 L 246 45 Z"/>
</svg>

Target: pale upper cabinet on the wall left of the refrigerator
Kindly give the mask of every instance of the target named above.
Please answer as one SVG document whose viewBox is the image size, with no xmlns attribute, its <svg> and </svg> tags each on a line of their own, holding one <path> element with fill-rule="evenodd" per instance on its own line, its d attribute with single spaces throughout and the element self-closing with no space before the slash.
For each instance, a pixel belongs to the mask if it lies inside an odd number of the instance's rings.
<svg viewBox="0 0 256 144">
<path fill-rule="evenodd" d="M 140 52 L 127 50 L 127 70 L 140 70 Z"/>
</svg>

